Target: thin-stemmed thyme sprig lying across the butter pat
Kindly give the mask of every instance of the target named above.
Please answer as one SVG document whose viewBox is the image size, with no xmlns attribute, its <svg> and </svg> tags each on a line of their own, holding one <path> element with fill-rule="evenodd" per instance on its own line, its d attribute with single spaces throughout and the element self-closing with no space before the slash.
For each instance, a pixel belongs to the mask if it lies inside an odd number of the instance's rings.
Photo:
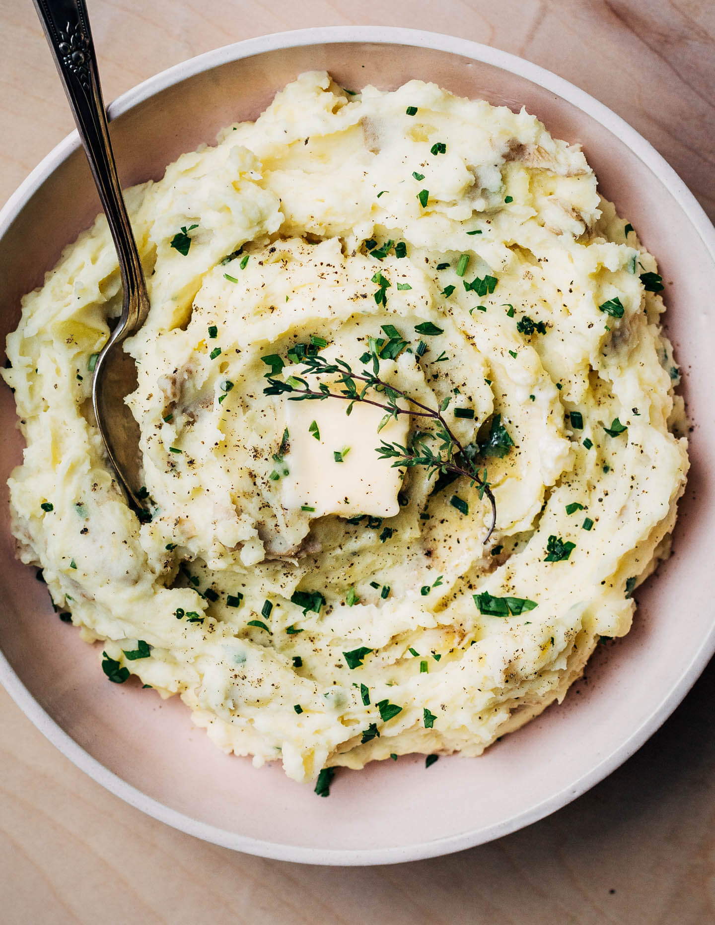
<svg viewBox="0 0 715 925">
<path fill-rule="evenodd" d="M 484 542 L 494 532 L 497 523 L 497 505 L 492 493 L 491 487 L 487 481 L 487 469 L 480 475 L 479 469 L 475 464 L 475 459 L 479 455 L 479 448 L 475 443 L 462 446 L 460 440 L 456 437 L 450 425 L 444 418 L 444 412 L 450 404 L 450 397 L 445 398 L 438 410 L 430 408 L 428 405 L 417 401 L 411 395 L 408 395 L 401 388 L 396 388 L 391 383 L 380 378 L 379 374 L 379 356 L 378 344 L 376 339 L 370 338 L 370 354 L 372 355 L 372 371 L 363 368 L 360 373 L 353 372 L 351 365 L 344 360 L 336 358 L 332 362 L 319 355 L 305 355 L 301 358 L 302 369 L 299 374 L 289 376 L 285 381 L 277 379 L 274 367 L 270 373 L 266 374 L 269 385 L 264 388 L 265 395 L 282 395 L 290 394 L 288 401 L 325 401 L 326 399 L 340 399 L 349 401 L 350 404 L 346 409 L 346 414 L 350 414 L 352 406 L 356 401 L 362 401 L 364 404 L 374 405 L 376 408 L 382 408 L 386 413 L 379 425 L 379 433 L 390 420 L 397 420 L 399 414 L 411 414 L 413 417 L 429 418 L 436 422 L 436 430 L 418 431 L 413 439 L 410 448 L 402 446 L 400 443 L 388 443 L 382 440 L 376 452 L 380 459 L 391 459 L 393 468 L 422 465 L 427 469 L 428 478 L 433 475 L 452 475 L 464 476 L 470 480 L 471 485 L 479 488 L 479 499 L 485 495 L 491 506 L 491 524 Z M 333 382 L 331 390 L 326 383 L 318 383 L 317 388 L 311 388 L 311 385 L 305 376 L 337 376 Z M 359 385 L 360 384 L 360 385 Z M 383 396 L 385 401 L 377 401 L 375 397 L 368 398 L 368 393 L 372 396 Z M 398 403 L 402 399 L 409 405 L 407 408 L 401 407 Z M 437 451 L 433 450 L 427 444 L 427 440 L 437 438 Z"/>
</svg>

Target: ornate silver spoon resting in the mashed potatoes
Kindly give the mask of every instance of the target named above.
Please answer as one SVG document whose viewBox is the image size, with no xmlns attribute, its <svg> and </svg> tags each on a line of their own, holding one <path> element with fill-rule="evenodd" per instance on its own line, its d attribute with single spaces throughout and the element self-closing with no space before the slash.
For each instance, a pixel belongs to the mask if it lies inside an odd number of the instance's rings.
<svg viewBox="0 0 715 925">
<path fill-rule="evenodd" d="M 137 370 L 133 359 L 121 347 L 122 340 L 142 327 L 149 312 L 142 262 L 117 178 L 84 0 L 33 2 L 67 93 L 117 248 L 124 290 L 122 313 L 94 366 L 92 404 L 109 460 L 127 492 L 129 503 L 143 519 L 146 512 L 139 499 L 139 425 L 124 401 L 137 387 Z"/>
</svg>

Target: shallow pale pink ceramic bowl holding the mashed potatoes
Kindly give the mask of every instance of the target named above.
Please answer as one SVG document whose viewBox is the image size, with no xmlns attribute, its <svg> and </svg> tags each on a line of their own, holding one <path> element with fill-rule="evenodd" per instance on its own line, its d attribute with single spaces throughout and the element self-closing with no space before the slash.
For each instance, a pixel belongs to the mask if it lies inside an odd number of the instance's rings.
<svg viewBox="0 0 715 925">
<path fill-rule="evenodd" d="M 548 71 L 446 35 L 372 27 L 309 29 L 219 48 L 171 68 L 111 105 L 125 185 L 158 179 L 181 152 L 253 118 L 304 70 L 343 86 L 393 89 L 411 78 L 535 113 L 582 142 L 602 191 L 660 263 L 667 326 L 695 424 L 674 555 L 639 591 L 630 635 L 599 647 L 587 683 L 479 759 L 424 757 L 341 771 L 328 799 L 277 768 L 228 758 L 179 700 L 107 684 L 98 652 L 55 617 L 34 571 L 15 560 L 5 480 L 21 441 L 0 391 L 0 680 L 69 759 L 132 806 L 218 845 L 313 864 L 381 864 L 478 845 L 546 816 L 598 783 L 672 712 L 715 648 L 711 537 L 715 492 L 715 229 L 665 161 L 623 120 Z M 99 211 L 77 135 L 38 166 L 0 213 L 2 334 L 20 296 Z M 15 435 L 15 436 L 14 436 Z"/>
</svg>

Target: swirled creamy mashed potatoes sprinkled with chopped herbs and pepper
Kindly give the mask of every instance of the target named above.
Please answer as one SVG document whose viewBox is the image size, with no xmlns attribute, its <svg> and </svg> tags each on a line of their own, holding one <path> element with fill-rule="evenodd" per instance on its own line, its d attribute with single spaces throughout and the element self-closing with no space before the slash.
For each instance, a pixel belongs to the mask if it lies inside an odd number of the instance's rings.
<svg viewBox="0 0 715 925">
<path fill-rule="evenodd" d="M 121 302 L 104 216 L 24 299 L 4 372 L 18 555 L 101 642 L 97 683 L 102 661 L 179 694 L 217 746 L 297 781 L 478 755 L 561 700 L 628 632 L 687 469 L 655 260 L 579 148 L 435 84 L 314 72 L 127 198 L 151 522 L 92 421 Z M 377 368 L 400 412 L 378 433 L 384 390 L 350 416 L 291 402 L 300 376 L 339 391 L 312 356 Z M 490 535 L 479 481 L 376 452 L 449 452 L 438 409 L 491 486 Z"/>
</svg>

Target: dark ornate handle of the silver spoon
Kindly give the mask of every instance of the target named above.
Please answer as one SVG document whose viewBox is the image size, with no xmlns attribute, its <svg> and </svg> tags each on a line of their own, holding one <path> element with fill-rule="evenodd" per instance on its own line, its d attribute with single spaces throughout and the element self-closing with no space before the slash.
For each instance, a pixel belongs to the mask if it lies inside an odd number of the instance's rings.
<svg viewBox="0 0 715 925">
<path fill-rule="evenodd" d="M 117 334 L 119 331 L 129 334 L 144 320 L 141 315 L 148 307 L 146 285 L 117 178 L 87 7 L 84 0 L 33 2 L 67 93 L 117 248 L 124 287 L 124 304 Z"/>
</svg>

